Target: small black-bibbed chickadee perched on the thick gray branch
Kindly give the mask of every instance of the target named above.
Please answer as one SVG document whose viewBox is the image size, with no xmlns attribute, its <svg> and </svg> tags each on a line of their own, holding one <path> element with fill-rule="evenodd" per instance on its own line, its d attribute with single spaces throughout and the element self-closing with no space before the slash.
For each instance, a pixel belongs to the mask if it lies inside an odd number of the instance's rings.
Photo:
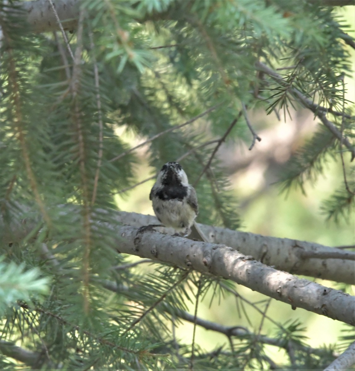
<svg viewBox="0 0 355 371">
<path fill-rule="evenodd" d="M 198 214 L 197 195 L 177 162 L 167 162 L 160 170 L 150 191 L 154 213 L 165 227 L 185 236 Z"/>
</svg>

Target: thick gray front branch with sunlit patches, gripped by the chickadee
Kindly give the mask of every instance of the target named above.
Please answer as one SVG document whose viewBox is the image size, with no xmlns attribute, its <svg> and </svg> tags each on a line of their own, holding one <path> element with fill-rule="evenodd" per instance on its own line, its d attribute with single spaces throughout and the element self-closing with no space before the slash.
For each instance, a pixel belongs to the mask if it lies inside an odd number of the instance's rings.
<svg viewBox="0 0 355 371">
<path fill-rule="evenodd" d="M 210 273 L 276 300 L 355 324 L 355 297 L 264 265 L 231 247 L 117 227 L 117 251 Z M 121 237 L 121 238 L 120 238 Z"/>
</svg>

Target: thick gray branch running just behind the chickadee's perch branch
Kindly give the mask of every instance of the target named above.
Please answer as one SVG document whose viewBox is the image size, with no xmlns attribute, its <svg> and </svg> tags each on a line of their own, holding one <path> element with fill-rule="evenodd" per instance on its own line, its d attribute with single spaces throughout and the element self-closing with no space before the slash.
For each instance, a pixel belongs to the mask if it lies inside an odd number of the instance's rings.
<svg viewBox="0 0 355 371">
<path fill-rule="evenodd" d="M 75 211 L 73 211 L 75 212 Z M 100 214 L 104 213 L 100 210 Z M 117 211 L 117 223 L 130 224 L 134 227 L 148 224 L 159 224 L 155 216 Z M 9 244 L 19 242 L 35 227 L 38 219 L 12 220 L 10 225 L 1 223 L 1 243 Z M 221 227 L 198 224 L 209 242 L 225 244 L 235 250 L 251 255 L 260 262 L 273 266 L 279 270 L 310 277 L 333 280 L 349 284 L 355 283 L 354 262 L 349 256 L 355 253 L 323 246 L 317 243 L 261 236 L 249 232 L 233 231 Z M 173 230 L 159 228 L 159 231 L 172 234 Z M 303 257 L 305 255 L 318 255 L 320 258 Z M 330 254 L 330 255 L 328 255 Z M 329 256 L 337 259 L 329 259 Z M 341 258 L 344 259 L 341 259 Z"/>
</svg>

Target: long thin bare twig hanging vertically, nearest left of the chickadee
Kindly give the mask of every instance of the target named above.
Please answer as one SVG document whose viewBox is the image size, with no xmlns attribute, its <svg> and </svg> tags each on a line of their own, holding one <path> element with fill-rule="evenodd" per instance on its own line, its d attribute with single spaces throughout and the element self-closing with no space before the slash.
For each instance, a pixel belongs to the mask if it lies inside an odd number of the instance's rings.
<svg viewBox="0 0 355 371">
<path fill-rule="evenodd" d="M 95 53 L 94 53 L 95 45 L 94 45 L 94 37 L 92 35 L 92 30 L 89 30 L 89 39 L 90 39 L 90 49 L 91 49 L 91 52 L 92 52 L 92 59 L 94 61 L 96 104 L 97 104 L 98 124 L 99 124 L 99 151 L 98 151 L 98 159 L 97 159 L 97 168 L 96 168 L 95 178 L 94 178 L 94 188 L 92 190 L 92 198 L 91 198 L 91 204 L 94 205 L 96 194 L 97 194 L 97 185 L 98 185 L 98 180 L 99 180 L 99 175 L 100 175 L 100 167 L 101 167 L 101 161 L 102 161 L 102 152 L 103 152 L 102 130 L 103 130 L 103 124 L 102 124 L 102 111 L 101 111 L 101 99 L 100 99 L 99 72 L 98 72 L 97 62 L 96 62 Z"/>
</svg>

